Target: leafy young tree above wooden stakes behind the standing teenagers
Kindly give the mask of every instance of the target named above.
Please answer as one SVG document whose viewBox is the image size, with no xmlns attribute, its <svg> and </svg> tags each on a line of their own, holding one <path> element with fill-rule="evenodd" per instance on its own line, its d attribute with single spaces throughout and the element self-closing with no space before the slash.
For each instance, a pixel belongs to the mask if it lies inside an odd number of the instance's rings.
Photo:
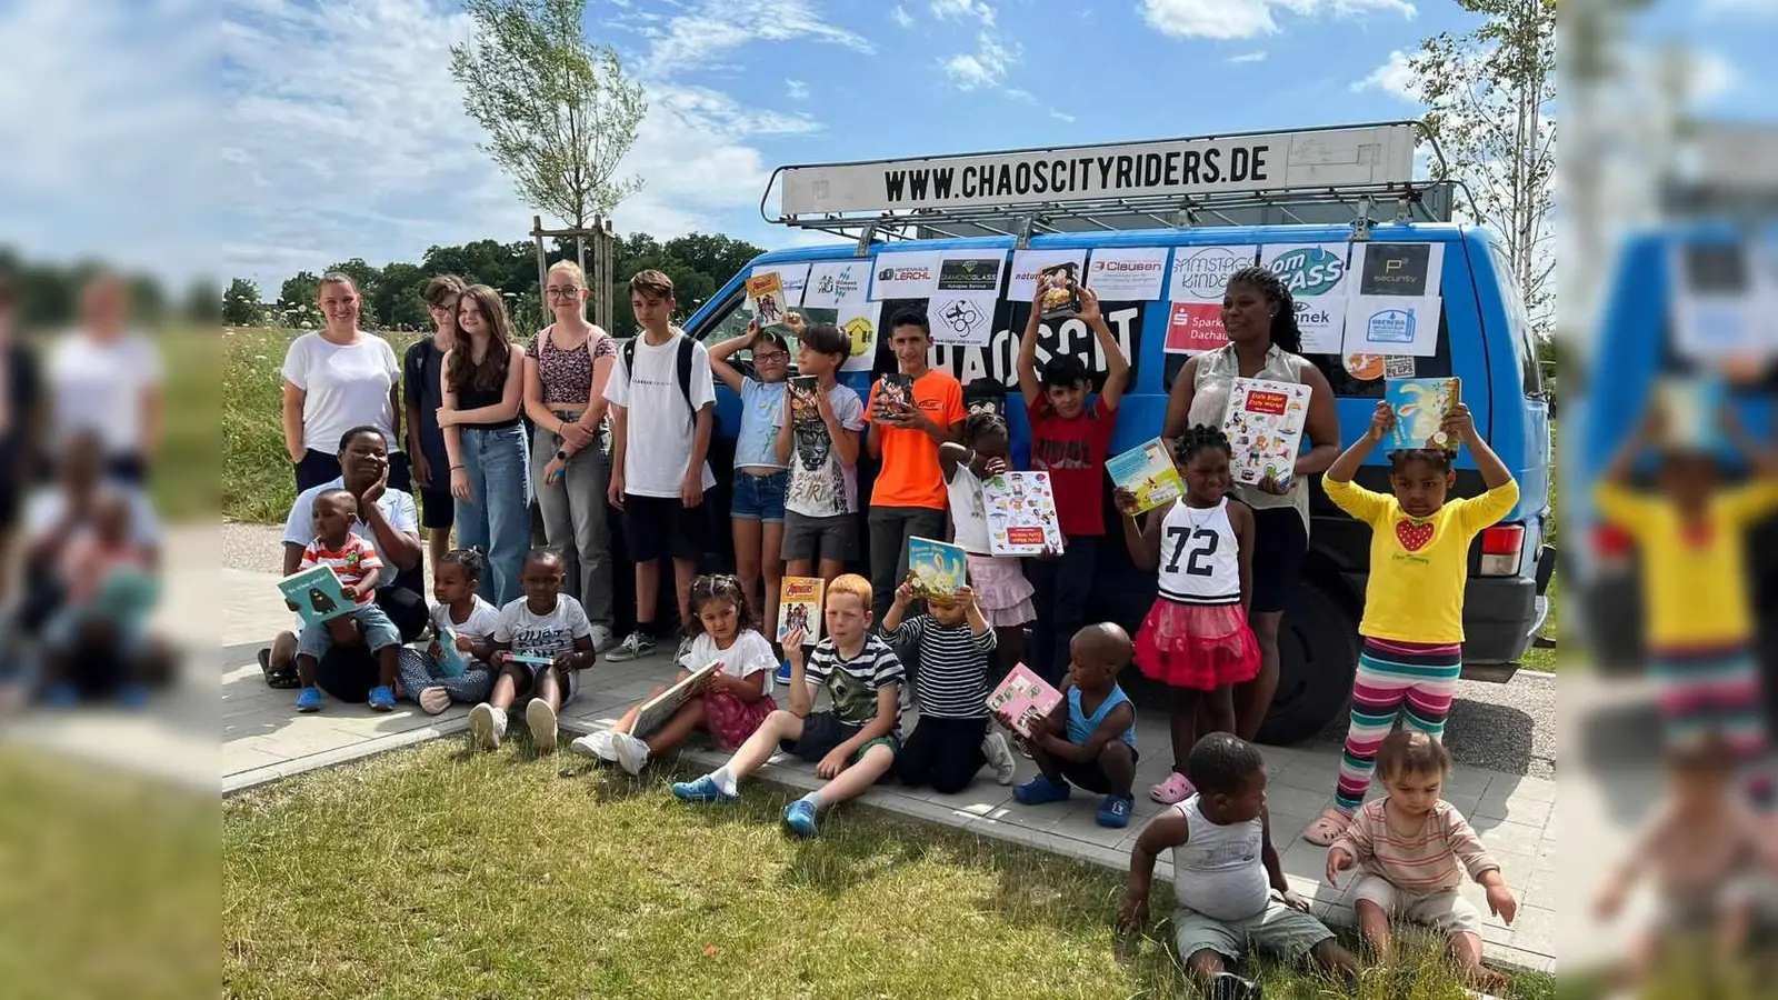
<svg viewBox="0 0 1778 1000">
<path fill-rule="evenodd" d="M 585 230 L 640 190 L 640 178 L 615 174 L 649 105 L 617 50 L 587 41 L 587 2 L 466 0 L 464 11 L 475 36 L 452 46 L 452 77 L 519 198 Z"/>
</svg>

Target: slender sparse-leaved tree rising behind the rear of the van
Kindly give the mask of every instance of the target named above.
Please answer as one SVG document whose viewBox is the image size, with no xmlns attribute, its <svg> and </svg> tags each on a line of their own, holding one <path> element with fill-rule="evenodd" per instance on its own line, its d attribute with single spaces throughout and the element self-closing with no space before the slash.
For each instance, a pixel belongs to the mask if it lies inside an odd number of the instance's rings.
<svg viewBox="0 0 1778 1000">
<path fill-rule="evenodd" d="M 1540 336 L 1552 324 L 1556 267 L 1556 0 L 1458 0 L 1485 21 L 1440 32 L 1408 59 L 1426 126 L 1476 196 L 1513 262 Z"/>
</svg>

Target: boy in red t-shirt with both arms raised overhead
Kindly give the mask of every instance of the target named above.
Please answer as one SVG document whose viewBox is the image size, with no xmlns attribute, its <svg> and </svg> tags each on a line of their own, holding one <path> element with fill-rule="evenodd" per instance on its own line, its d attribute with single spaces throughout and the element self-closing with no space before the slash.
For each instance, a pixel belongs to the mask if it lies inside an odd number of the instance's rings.
<svg viewBox="0 0 1778 1000">
<path fill-rule="evenodd" d="M 1026 560 L 1026 578 L 1037 587 L 1037 621 L 1026 665 L 1060 683 L 1069 667 L 1069 641 L 1086 625 L 1086 594 L 1099 564 L 1099 539 L 1106 534 L 1106 452 L 1117 429 L 1117 406 L 1129 383 L 1129 361 L 1106 326 L 1099 295 L 1081 288 L 1081 322 L 1093 331 L 1106 356 L 1104 386 L 1099 399 L 1086 406 L 1092 377 L 1081 358 L 1058 354 L 1044 363 L 1042 375 L 1037 374 L 1040 313 L 1033 301 L 1024 338 L 1019 340 L 1019 391 L 1031 422 L 1031 472 L 1049 473 L 1065 543 L 1060 559 Z"/>
</svg>

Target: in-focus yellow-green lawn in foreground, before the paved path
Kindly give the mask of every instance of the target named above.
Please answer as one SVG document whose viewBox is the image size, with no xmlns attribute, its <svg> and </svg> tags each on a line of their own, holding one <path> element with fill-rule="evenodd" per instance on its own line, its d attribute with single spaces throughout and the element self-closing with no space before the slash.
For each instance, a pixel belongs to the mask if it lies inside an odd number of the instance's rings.
<svg viewBox="0 0 1778 1000">
<path fill-rule="evenodd" d="M 564 769 L 565 770 L 558 770 Z M 811 842 L 788 795 L 679 804 L 667 776 L 436 742 L 222 808 L 222 979 L 238 996 L 1188 996 L 1124 875 L 850 806 Z M 1152 909 L 1170 909 L 1157 884 Z M 1262 970 L 1268 996 L 1342 996 Z M 1412 980 L 1412 986 L 1410 986 Z M 1549 977 L 1522 995 L 1550 996 Z M 1437 961 L 1360 996 L 1456 998 Z"/>
</svg>

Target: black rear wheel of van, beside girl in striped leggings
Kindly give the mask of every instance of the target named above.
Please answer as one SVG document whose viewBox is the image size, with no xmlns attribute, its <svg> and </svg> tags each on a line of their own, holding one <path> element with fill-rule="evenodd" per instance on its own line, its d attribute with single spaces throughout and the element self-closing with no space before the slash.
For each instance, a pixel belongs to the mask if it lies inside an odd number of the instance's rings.
<svg viewBox="0 0 1778 1000">
<path fill-rule="evenodd" d="M 1314 738 L 1346 710 L 1358 673 L 1358 623 L 1321 585 L 1305 582 L 1278 628 L 1278 692 L 1259 726 L 1259 742 Z"/>
</svg>

